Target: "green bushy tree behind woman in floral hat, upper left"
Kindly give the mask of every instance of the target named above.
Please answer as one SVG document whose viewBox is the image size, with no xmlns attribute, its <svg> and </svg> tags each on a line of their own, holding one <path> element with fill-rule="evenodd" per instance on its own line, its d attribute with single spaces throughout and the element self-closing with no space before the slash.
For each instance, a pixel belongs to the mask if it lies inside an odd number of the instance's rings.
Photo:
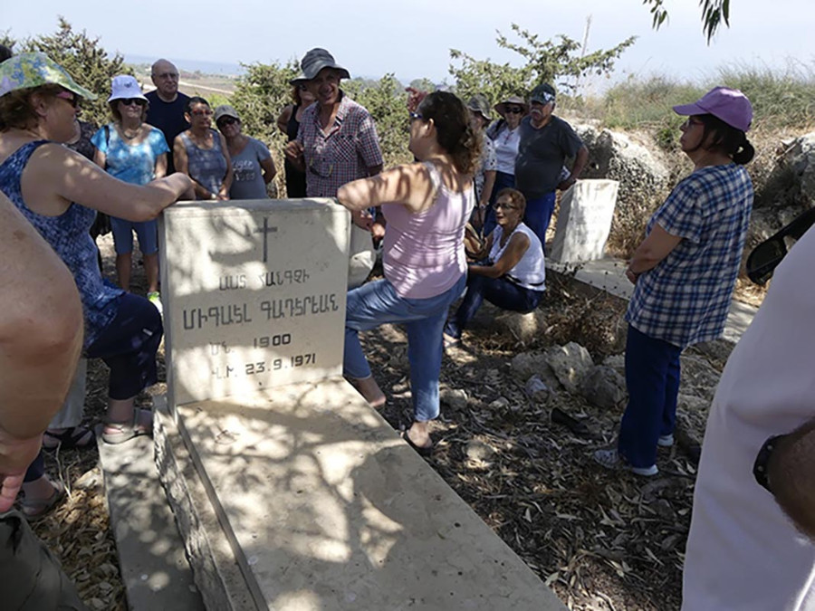
<svg viewBox="0 0 815 611">
<path fill-rule="evenodd" d="M 99 37 L 91 38 L 84 30 L 74 32 L 63 17 L 59 18 L 55 33 L 26 39 L 14 48 L 15 53 L 35 51 L 48 55 L 70 72 L 82 87 L 99 96 L 94 101 L 82 102 L 83 119 L 100 125 L 110 119 L 107 103 L 110 80 L 117 74 L 133 73 L 119 53 L 111 58 L 99 44 Z"/>
</svg>

